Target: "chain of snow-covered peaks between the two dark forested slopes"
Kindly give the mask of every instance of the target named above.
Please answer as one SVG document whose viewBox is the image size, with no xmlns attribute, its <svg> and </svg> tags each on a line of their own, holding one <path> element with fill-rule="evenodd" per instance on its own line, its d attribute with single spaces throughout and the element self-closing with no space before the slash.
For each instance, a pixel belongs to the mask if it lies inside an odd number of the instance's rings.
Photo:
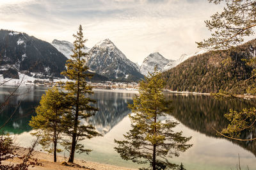
<svg viewBox="0 0 256 170">
<path fill-rule="evenodd" d="M 19 43 L 22 42 L 20 41 Z M 70 59 L 70 56 L 73 54 L 72 49 L 74 48 L 72 43 L 55 39 L 51 44 L 64 56 Z M 84 51 L 89 54 L 87 62 L 90 72 L 105 75 L 109 79 L 127 79 L 131 72 L 132 74 L 135 73 L 136 76 L 139 75 L 136 72 L 140 72 L 142 75 L 147 75 L 148 72 L 154 70 L 156 65 L 159 71 L 164 72 L 179 65 L 188 58 L 207 52 L 206 50 L 201 50 L 191 55 L 182 54 L 177 60 L 166 59 L 159 54 L 159 52 L 154 52 L 149 54 L 147 58 L 144 59 L 142 65 L 139 66 L 138 63 L 133 63 L 127 59 L 125 54 L 119 50 L 109 38 L 96 43 L 92 49 L 85 47 Z M 120 64 L 122 66 L 120 66 Z M 124 68 L 124 65 L 128 68 L 129 72 L 127 72 L 127 70 L 125 71 L 127 68 Z M 134 70 L 134 68 L 136 70 Z"/>
</svg>

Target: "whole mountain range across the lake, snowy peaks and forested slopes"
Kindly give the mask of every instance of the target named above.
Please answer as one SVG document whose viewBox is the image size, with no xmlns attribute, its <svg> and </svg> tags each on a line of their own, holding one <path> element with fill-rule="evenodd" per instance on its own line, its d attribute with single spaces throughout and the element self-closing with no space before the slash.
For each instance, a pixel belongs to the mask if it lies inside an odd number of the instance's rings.
<svg viewBox="0 0 256 170">
<path fill-rule="evenodd" d="M 26 33 L 1 29 L 0 74 L 4 78 L 16 79 L 19 73 L 37 79 L 61 77 L 72 49 L 72 43 L 67 41 L 53 40 L 48 43 Z M 167 80 L 166 88 L 211 93 L 230 89 L 251 76 L 252 67 L 242 59 L 256 56 L 256 40 L 232 50 L 202 50 L 191 55 L 183 54 L 177 60 L 166 59 L 159 52 L 154 52 L 144 59 L 140 67 L 127 59 L 109 39 L 91 49 L 86 47 L 84 51 L 88 53 L 89 72 L 95 74 L 91 81 L 140 81 L 157 65 Z M 223 64 L 223 61 L 229 62 Z"/>
</svg>

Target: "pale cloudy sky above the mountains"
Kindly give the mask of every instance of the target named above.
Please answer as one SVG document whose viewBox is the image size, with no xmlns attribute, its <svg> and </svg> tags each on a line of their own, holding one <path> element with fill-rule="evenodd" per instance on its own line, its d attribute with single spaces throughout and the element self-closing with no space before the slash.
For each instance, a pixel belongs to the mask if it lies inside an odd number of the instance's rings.
<svg viewBox="0 0 256 170">
<path fill-rule="evenodd" d="M 223 6 L 207 0 L 0 0 L 0 28 L 47 42 L 74 41 L 79 24 L 87 47 L 109 38 L 131 61 L 151 52 L 177 59 L 211 33 L 204 20 Z"/>
</svg>

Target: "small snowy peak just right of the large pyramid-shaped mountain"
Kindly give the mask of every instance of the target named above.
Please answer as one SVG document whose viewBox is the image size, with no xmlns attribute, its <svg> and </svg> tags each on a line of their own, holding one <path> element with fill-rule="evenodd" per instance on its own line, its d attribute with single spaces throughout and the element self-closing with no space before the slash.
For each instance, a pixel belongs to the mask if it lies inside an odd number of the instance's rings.
<svg viewBox="0 0 256 170">
<path fill-rule="evenodd" d="M 148 72 L 154 71 L 155 66 L 157 66 L 158 70 L 162 70 L 170 62 L 173 62 L 173 60 L 164 58 L 159 52 L 151 53 L 140 66 L 140 73 L 147 75 Z"/>
</svg>

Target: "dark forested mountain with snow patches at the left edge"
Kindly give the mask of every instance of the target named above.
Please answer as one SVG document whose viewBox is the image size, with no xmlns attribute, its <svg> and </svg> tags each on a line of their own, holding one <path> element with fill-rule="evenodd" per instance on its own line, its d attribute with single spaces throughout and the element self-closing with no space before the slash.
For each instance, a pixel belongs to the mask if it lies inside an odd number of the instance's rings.
<svg viewBox="0 0 256 170">
<path fill-rule="evenodd" d="M 51 43 L 26 33 L 0 30 L 0 73 L 19 78 L 18 72 L 36 78 L 61 77 L 67 58 Z"/>
</svg>

